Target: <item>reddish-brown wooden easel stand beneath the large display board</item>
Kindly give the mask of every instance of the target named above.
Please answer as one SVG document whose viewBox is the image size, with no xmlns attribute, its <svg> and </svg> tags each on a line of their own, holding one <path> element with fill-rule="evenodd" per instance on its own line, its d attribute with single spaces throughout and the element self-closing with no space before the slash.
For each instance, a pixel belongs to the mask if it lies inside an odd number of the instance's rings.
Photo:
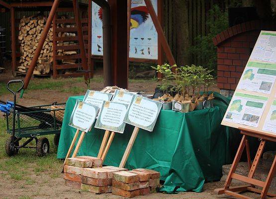
<svg viewBox="0 0 276 199">
<path fill-rule="evenodd" d="M 270 172 L 268 174 L 266 182 L 256 180 L 253 178 L 254 174 L 256 172 L 259 160 L 261 159 L 262 153 L 264 151 L 266 142 L 267 141 L 276 142 L 276 135 L 265 134 L 265 133 L 261 133 L 259 131 L 248 130 L 245 128 L 239 128 L 239 129 L 241 130 L 241 133 L 243 134 L 242 141 L 240 143 L 237 154 L 235 156 L 235 159 L 234 159 L 231 169 L 229 171 L 228 177 L 224 184 L 224 188 L 216 189 L 215 192 L 218 195 L 227 194 L 227 195 L 239 198 L 239 199 L 252 199 L 250 197 L 243 196 L 243 195 L 237 193 L 237 192 L 249 191 L 249 192 L 261 194 L 260 199 L 265 199 L 267 196 L 273 197 L 270 199 L 276 199 L 276 194 L 268 193 L 271 182 L 273 180 L 273 177 L 276 174 L 276 157 L 274 158 L 274 161 L 273 161 L 272 167 L 270 169 Z M 250 149 L 249 149 L 249 143 L 248 143 L 248 137 L 250 137 L 250 136 L 257 137 L 261 140 L 261 143 L 259 145 L 258 151 L 256 153 L 256 156 L 255 156 L 252 164 L 251 164 L 251 159 L 250 159 Z M 246 153 L 247 153 L 248 166 L 250 168 L 249 174 L 247 177 L 235 173 L 245 147 L 246 147 Z M 248 183 L 248 185 L 230 187 L 232 179 L 236 179 L 236 180 Z M 255 186 L 262 187 L 263 189 L 262 190 L 256 189 Z"/>
</svg>

